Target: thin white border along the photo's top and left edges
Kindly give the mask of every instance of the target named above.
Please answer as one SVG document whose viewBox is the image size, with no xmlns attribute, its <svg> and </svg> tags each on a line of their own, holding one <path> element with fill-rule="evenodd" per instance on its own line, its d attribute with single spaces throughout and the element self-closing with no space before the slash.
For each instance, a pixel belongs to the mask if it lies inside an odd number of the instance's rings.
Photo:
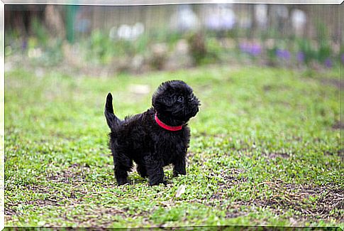
<svg viewBox="0 0 344 231">
<path fill-rule="evenodd" d="M 5 4 L 55 4 L 91 6 L 152 6 L 177 4 L 287 4 L 287 5 L 340 5 L 344 0 L 0 0 L 0 230 L 5 227 Z"/>
</svg>

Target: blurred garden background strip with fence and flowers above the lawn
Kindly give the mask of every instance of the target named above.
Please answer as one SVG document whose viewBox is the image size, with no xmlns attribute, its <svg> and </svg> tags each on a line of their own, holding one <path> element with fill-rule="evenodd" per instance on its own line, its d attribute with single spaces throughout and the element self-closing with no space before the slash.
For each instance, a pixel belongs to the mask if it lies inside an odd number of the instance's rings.
<svg viewBox="0 0 344 231">
<path fill-rule="evenodd" d="M 326 70 L 344 63 L 343 6 L 5 6 L 5 70 L 87 75 L 199 65 Z"/>
</svg>

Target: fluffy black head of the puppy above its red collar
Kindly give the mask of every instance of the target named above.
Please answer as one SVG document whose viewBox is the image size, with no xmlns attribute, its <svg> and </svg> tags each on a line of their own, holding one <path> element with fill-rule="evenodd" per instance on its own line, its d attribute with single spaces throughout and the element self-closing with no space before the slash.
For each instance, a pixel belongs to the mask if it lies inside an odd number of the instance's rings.
<svg viewBox="0 0 344 231">
<path fill-rule="evenodd" d="M 184 124 L 199 112 L 200 102 L 189 85 L 181 80 L 171 80 L 157 88 L 152 105 L 161 117 L 171 119 L 173 124 Z"/>
</svg>

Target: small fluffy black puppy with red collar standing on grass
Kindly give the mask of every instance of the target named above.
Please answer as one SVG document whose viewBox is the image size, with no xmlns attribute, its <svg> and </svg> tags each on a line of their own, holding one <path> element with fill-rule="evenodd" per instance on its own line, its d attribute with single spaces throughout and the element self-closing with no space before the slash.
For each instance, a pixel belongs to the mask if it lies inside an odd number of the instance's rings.
<svg viewBox="0 0 344 231">
<path fill-rule="evenodd" d="M 109 147 L 118 186 L 128 183 L 128 171 L 148 177 L 150 186 L 166 183 L 163 167 L 173 164 L 173 176 L 185 175 L 190 141 L 187 122 L 199 112 L 199 100 L 181 80 L 163 82 L 152 96 L 152 107 L 120 120 L 106 97 L 105 117 L 111 129 Z"/>
</svg>

